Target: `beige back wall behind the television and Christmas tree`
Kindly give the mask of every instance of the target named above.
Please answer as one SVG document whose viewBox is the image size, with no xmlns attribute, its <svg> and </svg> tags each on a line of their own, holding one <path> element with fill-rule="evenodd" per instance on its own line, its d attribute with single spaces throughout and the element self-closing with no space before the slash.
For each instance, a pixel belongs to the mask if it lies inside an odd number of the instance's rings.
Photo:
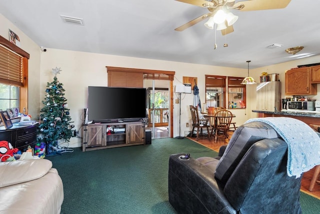
<svg viewBox="0 0 320 214">
<path fill-rule="evenodd" d="M 63 83 L 65 89 L 65 98 L 68 100 L 68 108 L 70 108 L 70 116 L 74 121 L 75 127 L 81 127 L 83 116 L 83 108 L 87 107 L 87 87 L 88 86 L 107 86 L 107 72 L 105 66 L 129 67 L 152 70 L 175 71 L 173 85 L 182 82 L 182 76 L 197 77 L 198 87 L 200 90 L 200 99 L 204 101 L 204 75 L 229 75 L 245 76 L 246 70 L 233 69 L 224 67 L 214 67 L 205 65 L 195 65 L 187 63 L 149 60 L 131 57 L 121 57 L 94 53 L 75 52 L 67 50 L 47 49 L 41 52 L 41 76 L 40 96 L 44 98 L 46 82 L 52 80 L 51 69 L 61 68 L 60 74 L 57 75 L 58 80 Z M 255 89 L 254 86 L 248 86 Z M 41 98 L 42 99 L 42 98 Z M 175 99 L 175 98 L 174 98 Z M 190 130 L 185 124 L 190 123 L 191 117 L 188 105 L 193 103 L 193 94 L 182 95 L 181 101 L 181 133 Z M 41 104 L 40 104 L 41 105 Z M 173 110 L 173 134 L 178 135 L 178 104 L 174 104 Z M 236 122 L 242 124 L 249 118 L 249 110 L 234 109 L 236 114 Z M 77 139 L 72 139 L 73 144 L 78 144 Z"/>
</svg>

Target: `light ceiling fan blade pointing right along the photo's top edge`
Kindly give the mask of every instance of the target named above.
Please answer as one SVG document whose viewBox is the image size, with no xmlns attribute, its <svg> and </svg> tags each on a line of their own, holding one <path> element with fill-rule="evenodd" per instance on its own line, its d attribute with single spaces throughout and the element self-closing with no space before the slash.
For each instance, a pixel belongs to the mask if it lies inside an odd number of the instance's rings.
<svg viewBox="0 0 320 214">
<path fill-rule="evenodd" d="M 260 10 L 271 10 L 271 9 L 282 9 L 285 8 L 291 0 L 251 0 L 241 1 L 233 5 L 233 9 L 240 11 L 260 11 Z M 243 7 L 244 6 L 244 7 Z"/>
</svg>

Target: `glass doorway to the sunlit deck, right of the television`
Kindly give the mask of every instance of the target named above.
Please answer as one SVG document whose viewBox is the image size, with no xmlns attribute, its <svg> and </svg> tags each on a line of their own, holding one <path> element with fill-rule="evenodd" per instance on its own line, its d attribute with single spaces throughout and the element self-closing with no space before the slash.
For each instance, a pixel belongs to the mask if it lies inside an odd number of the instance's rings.
<svg viewBox="0 0 320 214">
<path fill-rule="evenodd" d="M 143 85 L 147 93 L 148 122 L 146 129 L 151 130 L 152 139 L 169 137 L 169 81 L 145 79 Z"/>
</svg>

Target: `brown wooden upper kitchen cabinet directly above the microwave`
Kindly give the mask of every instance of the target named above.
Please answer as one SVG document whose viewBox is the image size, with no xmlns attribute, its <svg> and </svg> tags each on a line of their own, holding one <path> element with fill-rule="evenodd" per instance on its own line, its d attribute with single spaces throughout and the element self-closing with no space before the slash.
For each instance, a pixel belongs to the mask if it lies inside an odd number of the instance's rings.
<svg viewBox="0 0 320 214">
<path fill-rule="evenodd" d="M 311 83 L 310 67 L 295 68 L 285 72 L 285 94 L 315 95 L 317 85 Z"/>
</svg>

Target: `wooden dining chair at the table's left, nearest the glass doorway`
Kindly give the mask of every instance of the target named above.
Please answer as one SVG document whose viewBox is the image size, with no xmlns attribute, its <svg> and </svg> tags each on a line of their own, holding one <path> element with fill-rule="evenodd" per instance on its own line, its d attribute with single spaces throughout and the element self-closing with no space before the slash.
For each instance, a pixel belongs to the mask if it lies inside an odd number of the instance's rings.
<svg viewBox="0 0 320 214">
<path fill-rule="evenodd" d="M 191 137 L 193 135 L 193 131 L 196 128 L 196 138 L 195 140 L 199 139 L 199 131 L 200 134 L 203 136 L 203 128 L 206 128 L 207 131 L 207 136 L 209 138 L 209 140 L 211 140 L 210 137 L 210 132 L 209 132 L 209 127 L 210 124 L 208 122 L 208 119 L 199 119 L 199 113 L 198 113 L 198 108 L 194 107 L 192 105 L 189 106 L 190 107 L 190 112 L 191 112 L 191 118 L 192 118 L 192 131 L 191 131 Z"/>
</svg>

